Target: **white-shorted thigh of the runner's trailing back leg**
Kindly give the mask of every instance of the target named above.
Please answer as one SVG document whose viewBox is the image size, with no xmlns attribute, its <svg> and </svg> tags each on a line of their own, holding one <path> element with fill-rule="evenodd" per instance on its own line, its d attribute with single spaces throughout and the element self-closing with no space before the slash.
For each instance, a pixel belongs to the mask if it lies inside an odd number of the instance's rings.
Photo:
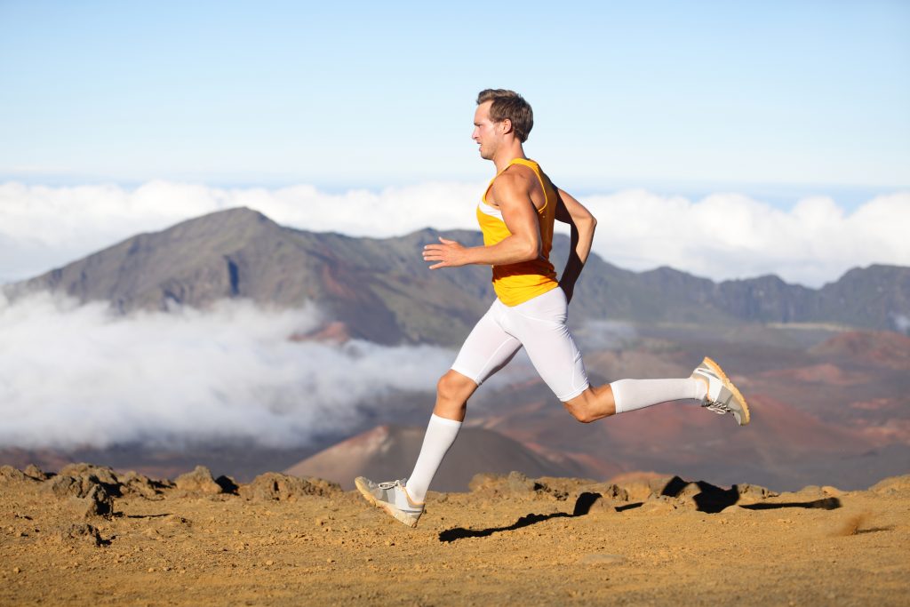
<svg viewBox="0 0 910 607">
<path fill-rule="evenodd" d="M 508 310 L 504 323 L 521 340 L 528 358 L 556 398 L 565 402 L 588 388 L 588 374 L 566 326 L 567 304 L 561 288 Z"/>
</svg>

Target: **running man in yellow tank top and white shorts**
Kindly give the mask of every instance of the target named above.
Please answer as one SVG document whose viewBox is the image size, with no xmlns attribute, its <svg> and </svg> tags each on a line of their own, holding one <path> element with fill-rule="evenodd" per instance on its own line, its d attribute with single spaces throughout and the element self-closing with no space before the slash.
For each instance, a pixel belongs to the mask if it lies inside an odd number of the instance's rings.
<svg viewBox="0 0 910 607">
<path fill-rule="evenodd" d="M 566 328 L 566 313 L 597 221 L 525 157 L 522 144 L 533 124 L 531 106 L 519 94 L 480 92 L 471 137 L 480 146 L 480 157 L 496 165 L 496 176 L 477 207 L 484 246 L 466 248 L 440 238 L 439 244 L 423 249 L 431 270 L 492 266 L 497 297 L 440 378 L 436 407 L 410 477 L 355 480 L 367 501 L 410 527 L 420 521 L 430 481 L 458 436 L 468 399 L 522 347 L 541 379 L 582 423 L 668 400 L 694 401 L 715 413 L 733 413 L 741 426 L 749 423 L 743 396 L 708 358 L 686 379 L 620 379 L 599 387 L 588 383 L 581 353 Z M 559 281 L 549 258 L 556 219 L 571 228 L 571 255 Z"/>
</svg>

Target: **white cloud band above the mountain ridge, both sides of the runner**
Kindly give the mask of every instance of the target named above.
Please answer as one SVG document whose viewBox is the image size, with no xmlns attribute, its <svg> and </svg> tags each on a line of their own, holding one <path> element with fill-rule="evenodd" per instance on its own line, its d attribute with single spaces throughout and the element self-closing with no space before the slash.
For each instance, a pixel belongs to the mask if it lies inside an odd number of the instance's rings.
<svg viewBox="0 0 910 607">
<path fill-rule="evenodd" d="M 473 206 L 483 186 L 425 183 L 330 194 L 311 186 L 6 183 L 0 185 L 0 282 L 229 207 L 255 208 L 293 228 L 352 236 L 399 236 L 427 226 L 475 229 Z M 738 194 L 690 200 L 624 190 L 581 201 L 600 220 L 594 250 L 622 268 L 672 266 L 714 280 L 777 274 L 819 287 L 856 266 L 910 265 L 910 192 L 875 197 L 849 214 L 829 197 L 805 198 L 785 211 Z"/>
</svg>

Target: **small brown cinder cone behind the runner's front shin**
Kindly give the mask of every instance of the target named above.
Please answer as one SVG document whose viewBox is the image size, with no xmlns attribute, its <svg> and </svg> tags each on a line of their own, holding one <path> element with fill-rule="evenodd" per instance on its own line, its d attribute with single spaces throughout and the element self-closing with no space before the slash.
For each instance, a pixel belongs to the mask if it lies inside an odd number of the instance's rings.
<svg viewBox="0 0 910 607">
<path fill-rule="evenodd" d="M 353 489 L 358 476 L 374 481 L 404 478 L 410 474 L 420 453 L 424 430 L 379 426 L 319 451 L 286 472 L 335 481 L 343 489 Z M 498 432 L 464 428 L 433 478 L 433 489 L 467 491 L 470 479 L 479 472 L 511 470 L 529 476 L 601 476 L 599 471 L 589 470 L 578 461 L 554 454 L 545 457 Z"/>
</svg>

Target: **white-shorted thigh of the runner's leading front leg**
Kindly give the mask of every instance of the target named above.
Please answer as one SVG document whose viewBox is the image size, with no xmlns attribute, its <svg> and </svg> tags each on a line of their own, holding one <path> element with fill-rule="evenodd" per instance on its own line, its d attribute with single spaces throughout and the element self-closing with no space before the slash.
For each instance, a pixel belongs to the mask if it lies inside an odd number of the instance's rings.
<svg viewBox="0 0 910 607">
<path fill-rule="evenodd" d="M 451 367 L 461 375 L 473 379 L 478 386 L 505 367 L 521 349 L 521 341 L 501 327 L 497 318 L 500 306 L 502 304 L 496 300 L 477 321 Z"/>
</svg>

